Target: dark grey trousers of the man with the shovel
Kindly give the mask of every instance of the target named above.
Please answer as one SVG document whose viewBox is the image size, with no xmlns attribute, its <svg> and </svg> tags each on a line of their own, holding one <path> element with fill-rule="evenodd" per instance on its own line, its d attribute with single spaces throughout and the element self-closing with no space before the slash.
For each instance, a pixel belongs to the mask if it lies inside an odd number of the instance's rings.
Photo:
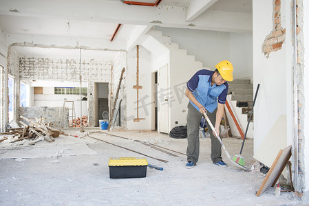
<svg viewBox="0 0 309 206">
<path fill-rule="evenodd" d="M 211 120 L 213 126 L 215 126 L 215 115 L 217 113 L 217 108 L 213 113 L 207 111 L 207 116 Z M 200 155 L 200 139 L 199 139 L 199 130 L 200 130 L 200 122 L 202 119 L 202 113 L 198 111 L 190 102 L 188 104 L 188 115 L 187 115 L 187 134 L 188 134 L 188 147 L 187 147 L 187 159 L 188 161 L 192 161 L 193 163 L 198 162 L 198 157 Z M 211 135 L 211 160 L 213 163 L 217 163 L 218 161 L 222 161 L 221 157 L 221 144 L 220 141 L 213 135 L 213 130 L 210 126 L 208 126 L 208 122 L 206 122 L 207 128 L 209 129 L 209 133 Z M 221 133 L 221 130 L 220 130 Z"/>
</svg>

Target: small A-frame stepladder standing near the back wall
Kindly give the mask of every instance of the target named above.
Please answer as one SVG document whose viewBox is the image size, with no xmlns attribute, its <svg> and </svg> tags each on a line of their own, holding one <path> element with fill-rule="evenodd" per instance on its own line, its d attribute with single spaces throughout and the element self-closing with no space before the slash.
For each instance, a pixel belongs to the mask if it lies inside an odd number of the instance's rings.
<svg viewBox="0 0 309 206">
<path fill-rule="evenodd" d="M 66 112 L 65 108 L 69 108 L 69 113 Z M 70 119 L 72 120 L 72 122 L 70 123 Z M 74 122 L 73 122 L 73 119 Z M 74 107 L 74 101 L 68 101 L 65 100 L 63 102 L 63 112 L 62 112 L 62 117 L 61 117 L 61 126 L 63 126 L 63 128 L 67 128 L 67 125 L 69 127 L 73 127 L 73 125 L 75 125 L 75 127 L 77 127 L 76 125 L 76 113 L 75 113 L 75 107 Z"/>
</svg>

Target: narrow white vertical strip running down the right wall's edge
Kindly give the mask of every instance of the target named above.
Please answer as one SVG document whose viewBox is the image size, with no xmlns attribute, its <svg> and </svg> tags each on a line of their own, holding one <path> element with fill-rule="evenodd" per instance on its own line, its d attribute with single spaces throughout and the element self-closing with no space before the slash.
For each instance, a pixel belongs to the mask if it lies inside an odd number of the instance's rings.
<svg viewBox="0 0 309 206">
<path fill-rule="evenodd" d="M 297 20 L 296 20 L 296 0 L 292 1 L 292 41 L 293 41 L 293 120 L 294 120 L 294 134 L 292 150 L 294 156 L 294 185 L 295 191 L 301 192 L 298 183 L 298 93 L 297 93 Z"/>
</svg>

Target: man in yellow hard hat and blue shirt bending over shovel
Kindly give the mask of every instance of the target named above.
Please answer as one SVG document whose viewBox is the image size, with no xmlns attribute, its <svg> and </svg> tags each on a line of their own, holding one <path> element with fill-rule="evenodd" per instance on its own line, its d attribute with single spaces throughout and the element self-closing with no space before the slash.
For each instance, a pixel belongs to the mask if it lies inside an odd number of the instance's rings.
<svg viewBox="0 0 309 206">
<path fill-rule="evenodd" d="M 228 93 L 228 83 L 233 81 L 233 65 L 224 60 L 215 65 L 215 71 L 202 69 L 187 82 L 186 95 L 189 98 L 187 115 L 187 160 L 186 168 L 193 168 L 200 155 L 199 129 L 203 113 L 206 113 L 220 135 L 220 122 Z M 222 161 L 221 144 L 209 126 L 211 135 L 211 160 L 215 165 L 226 167 Z"/>
</svg>

